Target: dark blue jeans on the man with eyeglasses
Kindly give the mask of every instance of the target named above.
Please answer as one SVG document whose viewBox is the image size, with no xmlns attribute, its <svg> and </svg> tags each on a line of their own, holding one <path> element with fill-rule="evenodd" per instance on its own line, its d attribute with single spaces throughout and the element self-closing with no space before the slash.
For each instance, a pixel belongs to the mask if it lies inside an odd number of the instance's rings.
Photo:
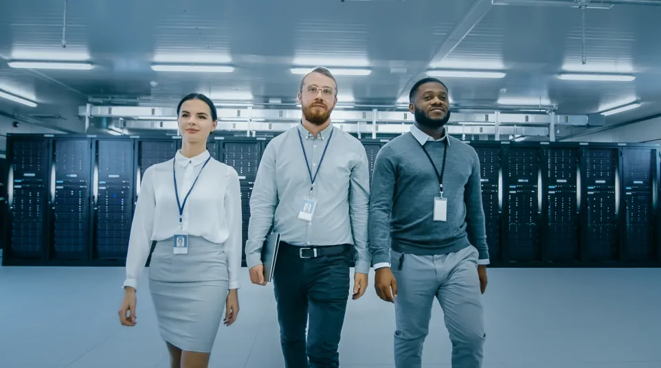
<svg viewBox="0 0 661 368">
<path fill-rule="evenodd" d="M 349 297 L 349 266 L 348 252 L 307 259 L 282 248 L 278 252 L 273 288 L 285 367 L 339 367 L 337 347 Z"/>
</svg>

